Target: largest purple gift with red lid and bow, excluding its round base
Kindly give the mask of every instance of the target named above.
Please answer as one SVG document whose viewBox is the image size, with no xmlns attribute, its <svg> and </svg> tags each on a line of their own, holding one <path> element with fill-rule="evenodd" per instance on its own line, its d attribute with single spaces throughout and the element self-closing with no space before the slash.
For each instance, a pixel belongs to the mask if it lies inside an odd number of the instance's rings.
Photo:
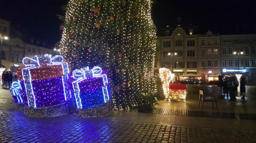
<svg viewBox="0 0 256 143">
<path fill-rule="evenodd" d="M 27 64 L 25 60 L 32 63 Z M 66 86 L 69 66 L 63 62 L 61 56 L 51 58 L 46 54 L 35 56 L 35 59 L 25 57 L 22 62 L 25 67 L 18 69 L 17 73 L 22 74 L 24 81 L 27 96 L 25 105 L 34 108 L 49 107 L 61 104 L 71 97 L 70 90 Z"/>
</svg>

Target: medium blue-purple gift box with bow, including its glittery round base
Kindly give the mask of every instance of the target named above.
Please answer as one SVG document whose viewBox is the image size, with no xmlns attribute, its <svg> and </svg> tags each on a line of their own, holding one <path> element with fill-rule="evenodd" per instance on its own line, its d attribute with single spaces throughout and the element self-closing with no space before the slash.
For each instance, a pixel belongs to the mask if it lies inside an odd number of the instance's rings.
<svg viewBox="0 0 256 143">
<path fill-rule="evenodd" d="M 100 67 L 76 69 L 72 77 L 77 116 L 103 117 L 111 113 L 108 78 Z"/>
</svg>

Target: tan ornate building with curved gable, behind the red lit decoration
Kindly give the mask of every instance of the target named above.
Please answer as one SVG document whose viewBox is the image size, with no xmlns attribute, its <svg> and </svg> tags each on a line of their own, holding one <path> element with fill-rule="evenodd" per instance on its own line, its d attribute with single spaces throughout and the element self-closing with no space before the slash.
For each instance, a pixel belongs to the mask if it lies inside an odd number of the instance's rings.
<svg viewBox="0 0 256 143">
<path fill-rule="evenodd" d="M 166 29 L 164 36 L 158 37 L 160 49 L 155 70 L 160 67 L 170 69 L 177 77 L 183 74 L 211 75 L 221 73 L 220 36 L 208 31 L 205 35 L 193 28 L 178 26 Z"/>
</svg>

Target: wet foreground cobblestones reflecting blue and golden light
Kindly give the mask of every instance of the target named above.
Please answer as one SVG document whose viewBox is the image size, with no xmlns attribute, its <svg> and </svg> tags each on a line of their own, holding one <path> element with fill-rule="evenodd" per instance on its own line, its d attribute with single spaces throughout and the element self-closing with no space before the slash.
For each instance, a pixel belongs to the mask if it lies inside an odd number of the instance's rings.
<svg viewBox="0 0 256 143">
<path fill-rule="evenodd" d="M 255 142 L 256 132 L 0 111 L 1 142 Z"/>
</svg>

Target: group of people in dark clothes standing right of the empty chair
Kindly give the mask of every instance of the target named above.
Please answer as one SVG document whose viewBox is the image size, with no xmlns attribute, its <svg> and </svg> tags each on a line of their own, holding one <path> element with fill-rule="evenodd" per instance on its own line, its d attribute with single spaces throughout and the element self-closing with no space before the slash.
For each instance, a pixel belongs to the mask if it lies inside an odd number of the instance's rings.
<svg viewBox="0 0 256 143">
<path fill-rule="evenodd" d="M 234 73 L 229 75 L 230 77 L 224 77 L 224 74 L 221 74 L 218 78 L 218 95 L 219 97 L 224 97 L 227 95 L 230 96 L 230 102 L 235 102 L 236 101 L 236 96 L 237 96 L 237 87 L 239 85 L 238 79 L 235 76 Z M 242 96 L 241 99 L 245 99 L 245 78 L 242 75 L 240 77 L 240 95 Z M 222 95 L 223 94 L 223 95 Z"/>
</svg>

